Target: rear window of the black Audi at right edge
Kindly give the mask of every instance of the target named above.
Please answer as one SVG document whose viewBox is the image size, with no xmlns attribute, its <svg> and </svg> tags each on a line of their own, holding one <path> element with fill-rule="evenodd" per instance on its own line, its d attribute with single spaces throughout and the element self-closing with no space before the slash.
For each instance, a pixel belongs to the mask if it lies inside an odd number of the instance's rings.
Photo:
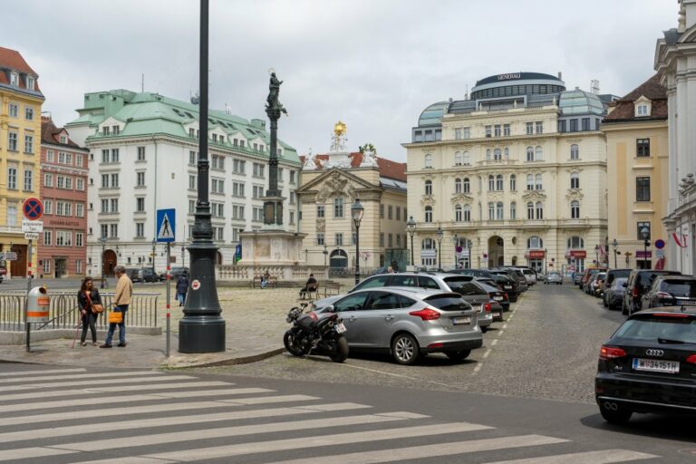
<svg viewBox="0 0 696 464">
<path fill-rule="evenodd" d="M 658 338 L 696 343 L 696 318 L 689 314 L 650 314 L 626 321 L 614 337 L 626 340 L 657 342 Z"/>
</svg>

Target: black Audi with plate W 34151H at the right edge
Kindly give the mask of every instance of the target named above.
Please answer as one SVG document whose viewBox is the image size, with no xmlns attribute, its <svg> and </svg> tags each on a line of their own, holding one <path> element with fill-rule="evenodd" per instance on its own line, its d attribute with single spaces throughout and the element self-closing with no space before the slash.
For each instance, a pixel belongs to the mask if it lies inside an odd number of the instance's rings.
<svg viewBox="0 0 696 464">
<path fill-rule="evenodd" d="M 696 415 L 696 308 L 632 314 L 600 350 L 594 396 L 612 423 L 634 412 Z"/>
</svg>

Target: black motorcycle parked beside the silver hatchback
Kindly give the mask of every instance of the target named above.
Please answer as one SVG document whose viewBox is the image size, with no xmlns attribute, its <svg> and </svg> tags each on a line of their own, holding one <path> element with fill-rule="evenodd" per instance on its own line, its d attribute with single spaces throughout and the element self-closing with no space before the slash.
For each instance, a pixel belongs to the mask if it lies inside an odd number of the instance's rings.
<svg viewBox="0 0 696 464">
<path fill-rule="evenodd" d="M 314 351 L 328 354 L 333 362 L 348 358 L 348 341 L 343 336 L 346 328 L 338 314 L 304 314 L 307 304 L 294 307 L 285 320 L 293 327 L 285 332 L 285 350 L 295 356 L 304 356 Z"/>
</svg>

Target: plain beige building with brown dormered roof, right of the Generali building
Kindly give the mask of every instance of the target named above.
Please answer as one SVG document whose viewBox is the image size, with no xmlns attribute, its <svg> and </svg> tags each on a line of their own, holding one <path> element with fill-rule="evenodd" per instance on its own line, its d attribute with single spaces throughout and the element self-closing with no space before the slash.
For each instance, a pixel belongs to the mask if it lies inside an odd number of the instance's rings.
<svg viewBox="0 0 696 464">
<path fill-rule="evenodd" d="M 611 266 L 663 268 L 664 250 L 654 241 L 669 240 L 662 225 L 669 198 L 669 134 L 667 93 L 655 75 L 613 102 L 604 118 L 609 197 Z M 641 230 L 651 246 L 645 249 Z M 647 253 L 646 253 L 647 251 Z M 615 258 L 615 259 L 614 259 Z"/>
</svg>

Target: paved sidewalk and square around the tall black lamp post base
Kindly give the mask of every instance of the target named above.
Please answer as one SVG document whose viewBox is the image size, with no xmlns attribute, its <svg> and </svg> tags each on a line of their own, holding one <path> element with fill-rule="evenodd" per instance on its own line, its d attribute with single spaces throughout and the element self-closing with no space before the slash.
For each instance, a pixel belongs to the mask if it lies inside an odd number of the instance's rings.
<svg viewBox="0 0 696 464">
<path fill-rule="evenodd" d="M 353 286 L 351 279 L 342 279 L 342 293 Z M 52 365 L 111 366 L 117 368 L 182 368 L 210 365 L 238 364 L 255 362 L 282 353 L 283 334 L 290 327 L 285 322 L 289 309 L 296 305 L 298 290 L 295 288 L 218 288 L 218 298 L 222 307 L 222 317 L 227 322 L 227 346 L 222 353 L 179 353 L 179 319 L 183 316 L 178 304 L 171 307 L 171 348 L 170 356 L 166 349 L 166 309 L 165 287 L 150 287 L 160 291 L 160 313 L 158 324 L 163 327 L 162 334 L 128 335 L 128 346 L 114 346 L 102 349 L 81 346 L 79 335 L 73 339 L 56 339 L 32 343 L 31 352 L 24 345 L 0 346 L 0 362 L 27 362 Z M 172 293 L 173 295 L 173 293 Z M 128 330 L 128 327 L 126 327 Z M 116 331 L 118 333 L 118 329 Z M 103 342 L 103 333 L 98 333 L 98 343 Z M 91 334 L 87 340 L 91 342 Z"/>
</svg>

